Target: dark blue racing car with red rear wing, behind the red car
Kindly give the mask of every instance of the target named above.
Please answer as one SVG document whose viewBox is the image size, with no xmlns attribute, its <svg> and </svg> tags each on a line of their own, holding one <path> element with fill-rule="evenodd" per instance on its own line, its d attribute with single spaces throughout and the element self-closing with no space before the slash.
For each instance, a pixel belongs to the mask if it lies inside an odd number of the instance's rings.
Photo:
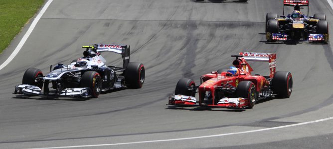
<svg viewBox="0 0 333 149">
<path fill-rule="evenodd" d="M 328 42 L 329 24 L 326 15 L 309 16 L 309 0 L 284 0 L 283 15 L 266 14 L 266 39 L 268 41 Z M 284 15 L 285 6 L 294 6 L 292 14 Z M 301 8 L 308 6 L 308 14 Z"/>
</svg>

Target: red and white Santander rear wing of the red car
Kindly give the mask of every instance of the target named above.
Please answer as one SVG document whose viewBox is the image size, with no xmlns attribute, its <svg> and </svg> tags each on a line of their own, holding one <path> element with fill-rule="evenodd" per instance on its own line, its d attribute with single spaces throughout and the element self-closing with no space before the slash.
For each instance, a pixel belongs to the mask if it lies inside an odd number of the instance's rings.
<svg viewBox="0 0 333 149">
<path fill-rule="evenodd" d="M 269 62 L 269 69 L 271 71 L 269 77 L 273 78 L 276 71 L 276 54 L 275 53 L 254 53 L 254 52 L 240 52 L 240 56 L 246 61 Z M 243 66 L 244 70 L 252 71 L 249 64 Z M 248 71 L 248 72 L 249 72 Z"/>
</svg>

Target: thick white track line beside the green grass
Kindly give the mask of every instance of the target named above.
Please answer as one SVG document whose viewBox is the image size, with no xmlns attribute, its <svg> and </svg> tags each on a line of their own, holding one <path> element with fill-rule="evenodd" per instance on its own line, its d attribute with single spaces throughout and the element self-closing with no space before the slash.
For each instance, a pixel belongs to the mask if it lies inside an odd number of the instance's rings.
<svg viewBox="0 0 333 149">
<path fill-rule="evenodd" d="M 39 19 L 41 18 L 41 16 L 44 14 L 44 12 L 46 11 L 47 7 L 50 5 L 50 3 L 53 0 L 48 0 L 44 7 L 40 10 L 40 12 L 38 13 L 38 15 L 36 16 L 36 18 L 32 21 L 30 27 L 28 28 L 28 30 L 26 31 L 26 33 L 24 34 L 23 38 L 21 39 L 21 41 L 18 43 L 17 47 L 15 48 L 15 50 L 13 51 L 13 53 L 11 53 L 11 55 L 8 57 L 8 59 L 6 61 L 4 61 L 1 65 L 0 65 L 0 70 L 2 70 L 5 66 L 7 66 L 9 64 L 9 62 L 11 60 L 14 59 L 14 57 L 17 55 L 17 53 L 21 50 L 21 48 L 23 47 L 25 41 L 28 39 L 28 37 L 30 36 L 32 30 L 35 28 L 37 22 L 39 21 Z"/>
</svg>

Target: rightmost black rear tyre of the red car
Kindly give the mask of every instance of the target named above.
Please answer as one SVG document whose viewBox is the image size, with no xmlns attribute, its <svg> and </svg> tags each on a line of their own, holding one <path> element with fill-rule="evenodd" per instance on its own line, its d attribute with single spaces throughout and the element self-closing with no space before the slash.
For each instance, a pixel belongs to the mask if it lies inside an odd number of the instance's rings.
<svg viewBox="0 0 333 149">
<path fill-rule="evenodd" d="M 293 77 L 290 72 L 279 71 L 273 77 L 273 92 L 278 97 L 289 98 L 293 91 Z"/>
</svg>

